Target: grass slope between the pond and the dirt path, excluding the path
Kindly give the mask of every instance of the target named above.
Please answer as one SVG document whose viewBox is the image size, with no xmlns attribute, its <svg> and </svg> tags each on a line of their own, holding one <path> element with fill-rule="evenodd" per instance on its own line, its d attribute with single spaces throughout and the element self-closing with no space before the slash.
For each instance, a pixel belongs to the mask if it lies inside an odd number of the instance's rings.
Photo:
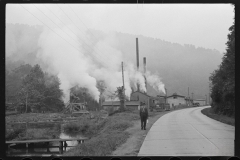
<svg viewBox="0 0 240 160">
<path fill-rule="evenodd" d="M 128 139 L 129 133 L 125 130 L 133 126 L 133 120 L 139 119 L 139 115 L 136 113 L 130 111 L 115 113 L 99 121 L 82 121 L 79 124 L 66 125 L 64 130 L 75 128 L 72 130 L 79 131 L 81 135 L 90 139 L 65 152 L 63 156 L 110 155 Z"/>
</svg>

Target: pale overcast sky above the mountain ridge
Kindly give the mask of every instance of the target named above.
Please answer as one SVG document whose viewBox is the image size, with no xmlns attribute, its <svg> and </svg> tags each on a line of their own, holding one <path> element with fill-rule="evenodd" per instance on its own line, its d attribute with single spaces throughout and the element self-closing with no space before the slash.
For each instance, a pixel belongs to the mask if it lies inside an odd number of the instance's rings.
<svg viewBox="0 0 240 160">
<path fill-rule="evenodd" d="M 39 18 L 54 28 L 53 22 L 61 23 L 53 13 L 68 24 L 71 18 L 81 27 L 144 35 L 221 53 L 234 21 L 230 4 L 7 4 L 6 22 L 43 25 Z"/>
</svg>

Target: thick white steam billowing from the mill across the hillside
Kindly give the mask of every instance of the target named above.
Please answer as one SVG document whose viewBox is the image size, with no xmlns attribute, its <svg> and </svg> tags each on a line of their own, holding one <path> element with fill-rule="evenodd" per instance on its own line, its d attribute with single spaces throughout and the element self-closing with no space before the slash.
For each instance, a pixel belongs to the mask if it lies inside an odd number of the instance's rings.
<svg viewBox="0 0 240 160">
<path fill-rule="evenodd" d="M 123 53 L 116 49 L 119 42 L 113 32 L 94 41 L 94 37 L 86 29 L 80 30 L 75 25 L 53 30 L 45 28 L 35 46 L 28 44 L 36 36 L 26 30 L 22 32 L 20 39 L 16 40 L 16 33 L 13 30 L 7 31 L 6 57 L 29 63 L 27 56 L 35 51 L 35 62 L 31 63 L 39 63 L 45 71 L 58 75 L 65 102 L 69 100 L 70 88 L 76 85 L 87 88 L 96 101 L 100 96 L 96 87 L 98 81 L 103 81 L 108 91 L 115 92 L 123 84 L 122 61 L 126 96 L 130 97 L 131 87 L 137 88 L 137 84 L 141 91 L 146 92 L 144 76 L 149 85 L 165 94 L 164 84 L 157 74 L 138 70 L 133 62 L 125 59 Z"/>
</svg>

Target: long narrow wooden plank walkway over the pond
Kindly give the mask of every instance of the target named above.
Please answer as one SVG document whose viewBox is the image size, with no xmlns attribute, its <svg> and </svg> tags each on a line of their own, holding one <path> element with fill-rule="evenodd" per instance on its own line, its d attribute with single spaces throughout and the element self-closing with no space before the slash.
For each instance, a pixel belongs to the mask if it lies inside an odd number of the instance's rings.
<svg viewBox="0 0 240 160">
<path fill-rule="evenodd" d="M 71 139 L 35 139 L 35 140 L 25 140 L 25 141 L 6 141 L 6 144 L 17 144 L 17 143 L 41 143 L 41 142 L 60 142 L 60 141 L 78 141 L 87 140 L 88 138 L 71 138 Z"/>
</svg>

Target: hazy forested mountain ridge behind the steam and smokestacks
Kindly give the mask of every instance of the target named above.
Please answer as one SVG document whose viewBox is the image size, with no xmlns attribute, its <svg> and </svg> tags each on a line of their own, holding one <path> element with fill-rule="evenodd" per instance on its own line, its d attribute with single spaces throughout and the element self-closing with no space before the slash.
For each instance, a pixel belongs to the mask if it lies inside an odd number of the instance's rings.
<svg viewBox="0 0 240 160">
<path fill-rule="evenodd" d="M 39 26 L 6 24 L 6 29 L 6 36 L 12 38 L 14 35 L 16 42 L 21 42 L 21 38 L 19 37 L 21 37 L 22 33 L 28 34 L 31 32 L 31 35 L 34 35 L 34 41 L 31 41 L 29 44 L 31 47 L 24 54 L 25 57 L 30 59 L 29 64 L 38 63 L 36 59 L 36 52 L 38 50 L 36 39 L 39 38 L 43 28 Z M 9 29 L 14 32 L 11 32 Z M 89 36 L 93 43 L 99 41 L 106 34 L 93 29 L 89 31 L 91 32 Z M 208 79 L 210 73 L 217 69 L 217 66 L 221 63 L 222 55 L 219 51 L 202 47 L 195 48 L 194 45 L 188 44 L 180 45 L 142 35 L 136 36 L 116 32 L 115 38 L 118 44 L 115 48 L 123 53 L 125 59 L 132 61 L 134 64 L 136 64 L 136 37 L 138 37 L 139 42 L 140 68 L 143 67 L 143 57 L 146 57 L 147 69 L 152 73 L 159 73 L 162 82 L 167 88 L 168 95 L 176 92 L 187 96 L 188 87 L 190 97 L 192 97 L 192 93 L 194 93 L 194 98 L 205 98 L 205 95 L 209 94 Z M 12 52 L 12 44 L 8 42 L 8 45 L 10 49 L 6 49 L 6 52 Z M 19 46 L 13 47 L 17 48 L 19 53 L 23 52 L 23 49 L 19 48 Z M 15 58 L 14 60 L 16 61 L 16 56 L 13 56 L 13 53 L 11 54 L 12 56 L 6 60 L 6 69 L 17 67 L 16 64 L 10 63 L 11 58 Z M 18 63 L 20 64 L 20 62 Z M 147 88 L 149 95 L 156 96 L 160 94 L 149 85 Z"/>
</svg>

